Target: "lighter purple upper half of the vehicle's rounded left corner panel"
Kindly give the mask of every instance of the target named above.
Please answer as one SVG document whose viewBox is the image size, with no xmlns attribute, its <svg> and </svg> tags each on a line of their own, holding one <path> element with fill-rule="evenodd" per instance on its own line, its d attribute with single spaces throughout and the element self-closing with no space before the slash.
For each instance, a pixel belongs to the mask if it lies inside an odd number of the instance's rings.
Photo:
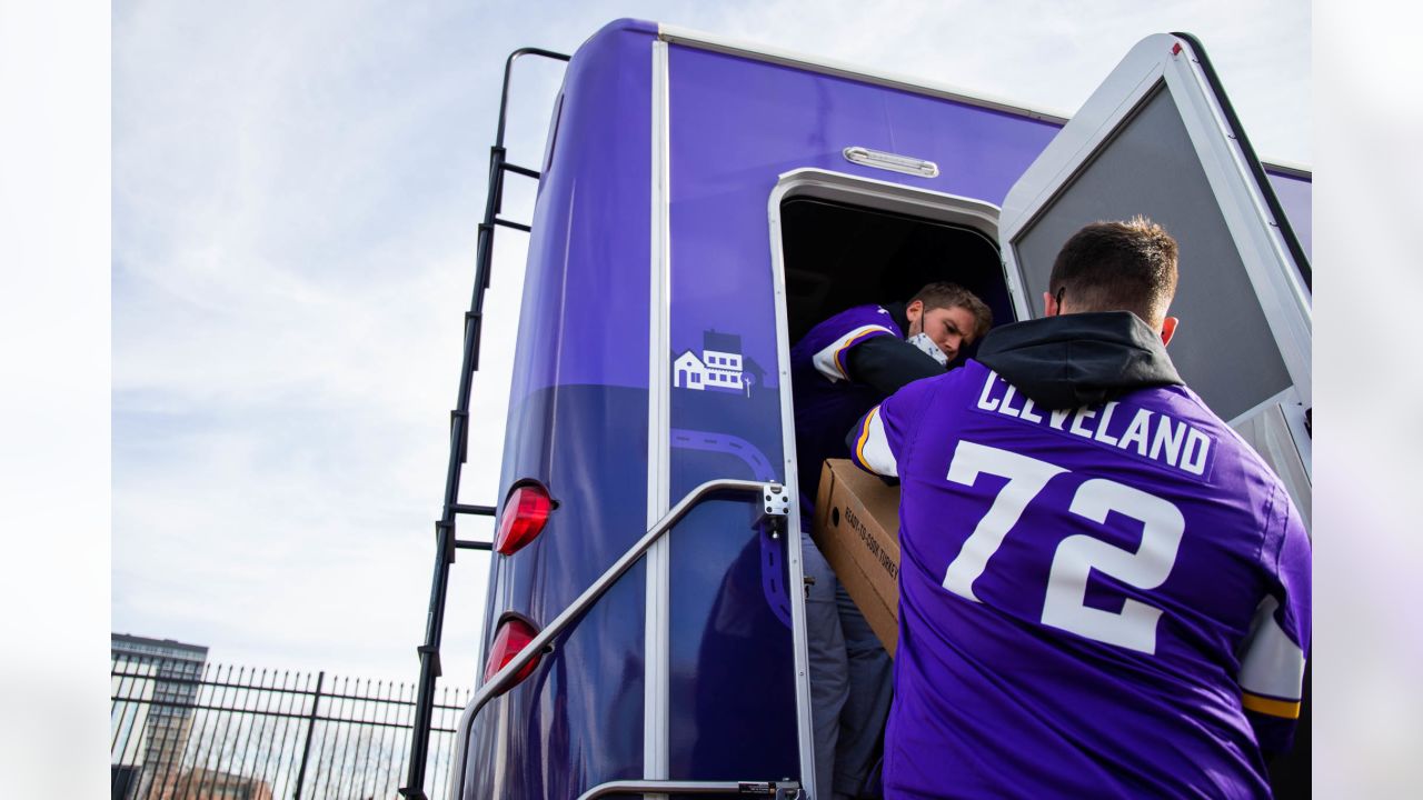
<svg viewBox="0 0 1423 800">
<path fill-rule="evenodd" d="M 534 212 L 511 404 L 548 386 L 647 387 L 656 31 L 610 23 L 568 65 Z"/>
</svg>

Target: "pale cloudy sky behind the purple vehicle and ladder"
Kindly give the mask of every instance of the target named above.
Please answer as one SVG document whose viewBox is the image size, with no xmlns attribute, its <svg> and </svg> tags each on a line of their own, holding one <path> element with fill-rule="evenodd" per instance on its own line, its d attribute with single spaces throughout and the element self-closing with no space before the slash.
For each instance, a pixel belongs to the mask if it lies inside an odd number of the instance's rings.
<svg viewBox="0 0 1423 800">
<path fill-rule="evenodd" d="M 1309 164 L 1302 3 L 182 3 L 112 17 L 112 628 L 414 679 L 504 57 L 640 17 L 1070 114 L 1195 33 L 1265 158 Z M 1086 11 L 1090 9 L 1090 14 Z M 559 73 L 515 85 L 536 164 Z M 515 182 L 507 216 L 527 219 Z M 497 495 L 522 236 L 499 233 L 461 500 Z M 488 456 L 481 456 L 488 454 Z M 462 535 L 488 535 L 467 524 Z M 487 561 L 453 572 L 470 680 Z"/>
</svg>

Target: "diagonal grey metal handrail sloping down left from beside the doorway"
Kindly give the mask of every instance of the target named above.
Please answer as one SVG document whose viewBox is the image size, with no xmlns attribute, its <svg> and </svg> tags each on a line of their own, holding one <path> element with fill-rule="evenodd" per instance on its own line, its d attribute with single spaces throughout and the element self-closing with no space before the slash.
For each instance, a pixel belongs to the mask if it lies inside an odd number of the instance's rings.
<svg viewBox="0 0 1423 800">
<path fill-rule="evenodd" d="M 583 589 L 583 594 L 578 595 L 578 599 L 571 602 L 568 608 L 564 609 L 552 622 L 549 622 L 528 645 L 524 646 L 502 669 L 494 673 L 480 686 L 474 698 L 470 699 L 470 705 L 465 706 L 464 713 L 460 717 L 460 733 L 455 739 L 455 753 L 460 759 L 460 769 L 451 770 L 451 791 L 450 800 L 460 800 L 464 793 L 464 773 L 468 764 L 468 753 L 465 747 L 470 739 L 470 730 L 474 727 L 474 719 L 480 716 L 480 710 L 492 700 L 495 696 L 502 693 L 505 689 L 515 683 L 514 676 L 518 675 L 524 666 L 527 666 L 535 658 L 544 655 L 545 652 L 552 652 L 551 642 L 559 636 L 565 629 L 571 628 L 578 619 L 595 604 L 603 594 L 612 588 L 612 585 L 622 578 L 633 564 L 638 562 L 643 554 L 673 525 L 682 521 L 689 511 L 704 498 L 712 494 L 719 493 L 760 493 L 766 500 L 764 515 L 768 517 L 785 517 L 790 512 L 788 493 L 784 487 L 776 483 L 764 481 L 743 481 L 734 478 L 721 478 L 707 481 L 692 491 L 689 491 L 676 505 L 673 505 L 662 520 L 657 520 L 652 528 L 636 544 L 633 544 L 628 552 L 622 554 L 612 567 L 608 568 L 591 586 Z"/>
</svg>

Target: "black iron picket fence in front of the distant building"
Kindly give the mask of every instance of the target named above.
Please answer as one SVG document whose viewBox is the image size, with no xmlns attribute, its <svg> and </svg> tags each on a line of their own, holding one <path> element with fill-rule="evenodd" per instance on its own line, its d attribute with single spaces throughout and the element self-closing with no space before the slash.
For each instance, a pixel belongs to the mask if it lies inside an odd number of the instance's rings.
<svg viewBox="0 0 1423 800">
<path fill-rule="evenodd" d="M 164 659 L 112 662 L 112 800 L 393 799 L 416 686 Z M 425 760 L 443 787 L 467 690 L 440 690 Z"/>
</svg>

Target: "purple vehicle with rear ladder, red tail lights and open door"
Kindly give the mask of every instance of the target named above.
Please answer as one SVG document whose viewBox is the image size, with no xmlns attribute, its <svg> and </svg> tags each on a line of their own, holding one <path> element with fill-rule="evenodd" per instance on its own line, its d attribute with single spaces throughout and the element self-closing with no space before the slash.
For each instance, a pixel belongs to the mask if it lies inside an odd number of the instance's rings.
<svg viewBox="0 0 1423 800">
<path fill-rule="evenodd" d="M 490 669 L 450 797 L 824 797 L 800 540 L 785 535 L 797 470 L 818 464 L 795 458 L 790 347 L 834 312 L 938 279 L 996 320 L 1029 319 L 1086 222 L 1146 214 L 1181 242 L 1173 359 L 1308 520 L 1309 174 L 1257 159 L 1190 36 L 1143 40 L 1069 121 L 619 20 L 572 56 L 541 169 L 502 158 L 501 142 L 453 487 L 498 186 L 515 171 L 539 191 Z M 467 544 L 454 518 L 478 511 L 453 487 L 423 688 Z"/>
</svg>

